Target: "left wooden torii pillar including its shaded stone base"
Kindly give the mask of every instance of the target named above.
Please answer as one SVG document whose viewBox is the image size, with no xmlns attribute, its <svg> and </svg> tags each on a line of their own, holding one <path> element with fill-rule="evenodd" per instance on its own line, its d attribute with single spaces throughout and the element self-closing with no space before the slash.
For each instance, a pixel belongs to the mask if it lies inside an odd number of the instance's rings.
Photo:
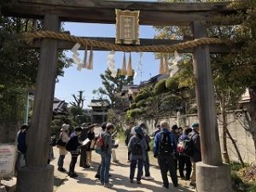
<svg viewBox="0 0 256 192">
<path fill-rule="evenodd" d="M 44 16 L 44 30 L 60 32 L 60 27 L 57 16 Z M 26 167 L 18 170 L 17 192 L 53 191 L 54 166 L 47 165 L 47 160 L 57 56 L 57 40 L 42 40 L 32 124 L 27 132 L 27 161 Z"/>
</svg>

